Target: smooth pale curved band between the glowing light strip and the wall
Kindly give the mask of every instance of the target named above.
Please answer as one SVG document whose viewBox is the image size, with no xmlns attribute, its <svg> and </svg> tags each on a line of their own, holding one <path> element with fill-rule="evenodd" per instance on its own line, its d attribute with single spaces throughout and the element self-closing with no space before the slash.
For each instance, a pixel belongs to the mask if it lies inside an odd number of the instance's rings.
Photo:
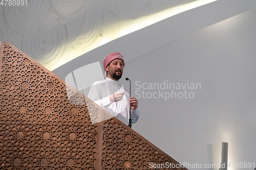
<svg viewBox="0 0 256 170">
<path fill-rule="evenodd" d="M 102 64 L 102 59 L 113 52 L 120 52 L 125 57 L 125 62 L 130 61 L 197 30 L 255 9 L 255 0 L 218 0 L 110 41 L 63 64 L 53 72 L 65 80 L 65 77 L 77 68 L 97 61 Z"/>
</svg>

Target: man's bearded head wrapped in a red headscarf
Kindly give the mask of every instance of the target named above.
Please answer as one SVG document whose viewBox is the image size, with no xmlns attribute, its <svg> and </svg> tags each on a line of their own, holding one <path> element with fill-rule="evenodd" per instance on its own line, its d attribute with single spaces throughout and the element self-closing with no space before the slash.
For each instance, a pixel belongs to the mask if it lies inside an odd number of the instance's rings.
<svg viewBox="0 0 256 170">
<path fill-rule="evenodd" d="M 122 77 L 124 60 L 120 53 L 112 53 L 103 60 L 103 66 L 108 78 L 118 81 Z"/>
</svg>

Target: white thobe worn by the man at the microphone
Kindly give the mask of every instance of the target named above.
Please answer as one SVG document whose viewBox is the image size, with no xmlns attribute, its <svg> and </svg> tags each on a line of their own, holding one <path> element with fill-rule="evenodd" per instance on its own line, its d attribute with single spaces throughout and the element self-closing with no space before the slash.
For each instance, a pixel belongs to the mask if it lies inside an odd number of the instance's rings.
<svg viewBox="0 0 256 170">
<path fill-rule="evenodd" d="M 125 92 L 119 102 L 111 103 L 109 97 L 115 92 Z M 121 120 L 125 125 L 129 125 L 130 96 L 121 82 L 106 78 L 103 81 L 94 82 L 88 93 L 88 98 L 108 111 L 110 114 Z M 139 119 L 139 109 L 131 110 L 132 124 Z"/>
</svg>

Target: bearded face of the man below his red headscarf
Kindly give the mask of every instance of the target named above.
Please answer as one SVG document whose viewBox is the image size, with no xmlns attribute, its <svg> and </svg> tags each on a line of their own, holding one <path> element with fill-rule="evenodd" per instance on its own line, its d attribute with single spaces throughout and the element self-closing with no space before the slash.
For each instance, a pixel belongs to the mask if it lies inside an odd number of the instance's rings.
<svg viewBox="0 0 256 170">
<path fill-rule="evenodd" d="M 108 78 L 118 81 L 122 77 L 123 67 L 122 59 L 118 58 L 113 60 L 108 67 L 106 67 Z"/>
</svg>

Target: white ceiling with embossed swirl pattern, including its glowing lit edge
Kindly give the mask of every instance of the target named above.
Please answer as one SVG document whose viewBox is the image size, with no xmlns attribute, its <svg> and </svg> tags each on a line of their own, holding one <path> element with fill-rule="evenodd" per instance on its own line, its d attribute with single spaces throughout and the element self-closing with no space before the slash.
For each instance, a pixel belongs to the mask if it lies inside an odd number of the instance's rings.
<svg viewBox="0 0 256 170">
<path fill-rule="evenodd" d="M 0 41 L 53 70 L 116 38 L 216 0 L 72 0 L 0 5 Z"/>
</svg>

